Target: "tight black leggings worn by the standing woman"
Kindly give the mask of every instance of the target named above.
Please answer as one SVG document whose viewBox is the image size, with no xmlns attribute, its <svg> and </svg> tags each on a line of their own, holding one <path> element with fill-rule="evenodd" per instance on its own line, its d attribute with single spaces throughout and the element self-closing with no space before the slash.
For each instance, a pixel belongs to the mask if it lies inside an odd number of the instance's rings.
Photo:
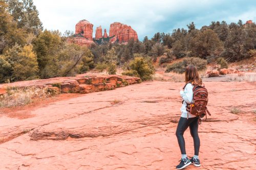
<svg viewBox="0 0 256 170">
<path fill-rule="evenodd" d="M 190 134 L 194 140 L 195 155 L 199 155 L 200 139 L 198 136 L 198 117 L 192 117 L 188 119 L 180 117 L 176 130 L 176 136 L 179 142 L 181 154 L 186 154 L 185 140 L 183 134 L 188 127 L 190 129 Z"/>
</svg>

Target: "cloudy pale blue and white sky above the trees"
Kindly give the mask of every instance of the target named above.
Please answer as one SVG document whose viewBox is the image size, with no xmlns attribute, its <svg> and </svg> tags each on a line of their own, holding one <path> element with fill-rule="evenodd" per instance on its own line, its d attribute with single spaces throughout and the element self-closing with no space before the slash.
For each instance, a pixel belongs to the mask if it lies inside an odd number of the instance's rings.
<svg viewBox="0 0 256 170">
<path fill-rule="evenodd" d="M 139 40 L 157 32 L 172 33 L 192 21 L 196 28 L 211 21 L 227 23 L 256 20 L 256 0 L 34 0 L 44 29 L 75 32 L 79 20 L 86 19 L 109 34 L 110 24 L 131 26 Z"/>
</svg>

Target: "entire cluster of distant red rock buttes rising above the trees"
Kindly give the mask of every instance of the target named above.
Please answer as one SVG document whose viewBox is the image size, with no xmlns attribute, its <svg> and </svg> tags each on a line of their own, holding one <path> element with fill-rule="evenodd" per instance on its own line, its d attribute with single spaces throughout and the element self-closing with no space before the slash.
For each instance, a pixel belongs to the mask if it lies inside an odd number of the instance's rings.
<svg viewBox="0 0 256 170">
<path fill-rule="evenodd" d="M 102 36 L 101 26 L 96 28 L 95 38 L 93 38 L 93 24 L 88 20 L 80 20 L 75 27 L 75 35 L 73 38 L 69 38 L 69 42 L 74 42 L 79 45 L 89 46 L 92 43 L 98 42 L 119 42 L 126 43 L 130 39 L 138 40 L 138 35 L 131 26 L 124 25 L 120 22 L 114 22 L 110 25 L 109 36 L 104 29 L 104 34 Z M 97 41 L 100 40 L 100 41 Z"/>
</svg>

